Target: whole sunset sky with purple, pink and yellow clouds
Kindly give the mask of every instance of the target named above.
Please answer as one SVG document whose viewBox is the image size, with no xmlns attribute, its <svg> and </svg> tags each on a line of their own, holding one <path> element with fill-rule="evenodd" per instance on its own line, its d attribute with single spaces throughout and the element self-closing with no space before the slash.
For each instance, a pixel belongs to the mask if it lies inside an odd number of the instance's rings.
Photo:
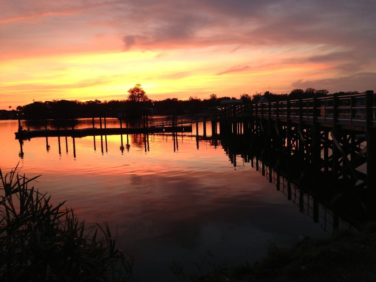
<svg viewBox="0 0 376 282">
<path fill-rule="evenodd" d="M 375 0 L 0 0 L 0 109 L 376 88 Z"/>
</svg>

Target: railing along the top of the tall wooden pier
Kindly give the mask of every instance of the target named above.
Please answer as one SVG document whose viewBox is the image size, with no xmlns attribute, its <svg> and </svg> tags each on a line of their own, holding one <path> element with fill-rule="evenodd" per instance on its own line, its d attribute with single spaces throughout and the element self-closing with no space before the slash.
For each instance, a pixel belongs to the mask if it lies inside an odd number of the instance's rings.
<svg viewBox="0 0 376 282">
<path fill-rule="evenodd" d="M 376 126 L 375 100 L 375 93 L 367 91 L 367 93 L 343 96 L 334 95 L 251 105 L 233 105 L 222 109 L 222 111 L 224 117 L 252 116 Z"/>
</svg>

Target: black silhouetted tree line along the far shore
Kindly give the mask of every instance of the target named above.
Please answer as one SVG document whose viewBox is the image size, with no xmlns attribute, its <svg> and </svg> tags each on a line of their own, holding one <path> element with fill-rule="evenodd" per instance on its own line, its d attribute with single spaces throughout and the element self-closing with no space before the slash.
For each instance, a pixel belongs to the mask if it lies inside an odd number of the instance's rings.
<svg viewBox="0 0 376 282">
<path fill-rule="evenodd" d="M 90 117 L 118 117 L 118 113 L 126 113 L 128 117 L 140 117 L 147 109 L 150 114 L 171 115 L 173 109 L 176 115 L 180 114 L 195 114 L 200 108 L 211 108 L 220 105 L 222 100 L 236 99 L 235 97 L 220 97 L 216 94 L 211 94 L 209 99 L 201 100 L 197 96 L 190 97 L 188 100 L 179 100 L 176 98 L 168 98 L 165 100 L 155 101 L 150 100 L 141 85 L 136 84 L 128 91 L 127 100 L 111 100 L 100 101 L 90 100 L 81 102 L 77 100 L 52 100 L 45 102 L 33 102 L 24 106 L 18 106 L 17 111 L 2 110 L 0 118 L 17 118 L 18 113 L 22 119 L 43 119 L 43 118 L 90 118 Z M 306 99 L 322 97 L 328 94 L 326 89 L 316 90 L 314 88 L 294 89 L 290 94 L 275 94 L 270 91 L 265 91 L 264 94 L 256 92 L 256 94 L 249 96 L 243 93 L 240 99 L 244 104 L 257 103 L 261 98 L 265 98 L 269 102 Z M 338 95 L 356 94 L 353 92 L 338 92 Z M 264 101 L 265 101 L 264 99 Z M 7 114 L 8 113 L 8 114 Z"/>
</svg>

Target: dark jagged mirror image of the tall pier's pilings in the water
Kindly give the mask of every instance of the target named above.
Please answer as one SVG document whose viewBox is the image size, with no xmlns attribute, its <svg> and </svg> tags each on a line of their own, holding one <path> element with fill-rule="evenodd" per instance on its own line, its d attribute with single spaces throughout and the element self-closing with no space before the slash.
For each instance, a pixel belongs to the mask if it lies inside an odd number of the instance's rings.
<svg viewBox="0 0 376 282">
<path fill-rule="evenodd" d="M 280 191 L 281 179 L 283 181 L 283 193 L 286 191 L 287 199 L 292 200 L 299 206 L 299 211 L 304 213 L 305 211 L 305 198 L 312 200 L 312 207 L 309 206 L 308 209 L 312 208 L 313 215 L 312 218 L 314 222 L 318 222 L 319 211 L 318 206 L 324 207 L 325 214 L 327 211 L 331 213 L 331 225 L 333 229 L 338 229 L 340 226 L 340 221 L 342 223 L 350 222 L 355 226 L 359 226 L 367 218 L 365 212 L 367 211 L 364 202 L 361 200 L 360 196 L 354 197 L 358 192 L 355 187 L 347 190 L 344 189 L 341 194 L 333 195 L 331 189 L 331 179 L 330 174 L 325 175 L 323 171 L 321 172 L 320 185 L 312 185 L 312 178 L 306 173 L 306 168 L 303 165 L 303 160 L 298 159 L 299 156 L 293 155 L 296 164 L 293 166 L 294 174 L 300 175 L 300 178 L 288 177 L 291 173 L 288 173 L 290 167 L 275 165 L 273 168 L 271 165 L 273 162 L 270 161 L 271 154 L 268 152 L 264 153 L 264 149 L 257 150 L 255 147 L 250 146 L 247 141 L 246 136 L 226 136 L 222 139 L 222 146 L 226 154 L 229 156 L 229 161 L 234 167 L 237 167 L 237 156 L 240 156 L 244 162 L 251 161 L 251 166 L 255 167 L 256 171 L 260 171 L 261 176 L 267 177 L 270 183 L 275 183 L 277 191 Z M 308 174 L 308 175 L 307 175 Z M 303 176 L 305 176 L 303 178 Z M 319 183 L 316 179 L 316 183 Z M 295 190 L 295 199 L 293 199 L 293 192 Z M 296 191 L 299 191 L 299 197 L 296 201 Z M 341 220 L 340 218 L 343 218 Z M 324 218 L 326 226 L 327 219 Z M 343 224 L 342 224 L 343 225 Z M 345 224 L 349 226 L 349 224 Z M 332 229 L 332 230 L 333 230 Z"/>
</svg>

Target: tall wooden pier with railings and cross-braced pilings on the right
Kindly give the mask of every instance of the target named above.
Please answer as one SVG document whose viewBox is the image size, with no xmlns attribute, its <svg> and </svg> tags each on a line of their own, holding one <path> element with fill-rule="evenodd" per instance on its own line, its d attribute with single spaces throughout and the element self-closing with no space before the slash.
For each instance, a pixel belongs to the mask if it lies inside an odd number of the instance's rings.
<svg viewBox="0 0 376 282">
<path fill-rule="evenodd" d="M 243 136 L 246 141 L 242 142 L 251 152 L 248 158 L 256 158 L 257 165 L 262 160 L 269 168 L 262 168 L 263 173 L 274 170 L 299 187 L 309 183 L 317 187 L 312 193 L 322 188 L 323 180 L 329 180 L 326 187 L 333 197 L 352 191 L 354 197 L 359 196 L 359 205 L 367 207 L 367 214 L 374 217 L 375 100 L 373 91 L 367 91 L 229 106 L 221 112 L 220 132 L 229 140 Z"/>
</svg>

